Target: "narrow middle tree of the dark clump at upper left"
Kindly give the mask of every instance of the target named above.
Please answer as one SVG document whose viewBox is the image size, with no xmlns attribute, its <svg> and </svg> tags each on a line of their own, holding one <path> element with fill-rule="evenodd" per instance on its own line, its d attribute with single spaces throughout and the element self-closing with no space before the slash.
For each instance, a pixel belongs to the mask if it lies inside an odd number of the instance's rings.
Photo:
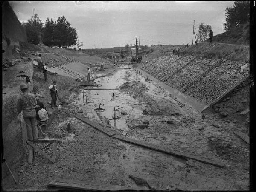
<svg viewBox="0 0 256 192">
<path fill-rule="evenodd" d="M 44 45 L 47 45 L 49 47 L 52 47 L 55 45 L 55 40 L 54 40 L 54 30 L 55 30 L 55 25 L 56 22 L 49 17 L 45 21 L 45 25 L 43 28 L 43 33 L 44 33 L 44 38 L 43 38 L 43 43 Z"/>
</svg>

